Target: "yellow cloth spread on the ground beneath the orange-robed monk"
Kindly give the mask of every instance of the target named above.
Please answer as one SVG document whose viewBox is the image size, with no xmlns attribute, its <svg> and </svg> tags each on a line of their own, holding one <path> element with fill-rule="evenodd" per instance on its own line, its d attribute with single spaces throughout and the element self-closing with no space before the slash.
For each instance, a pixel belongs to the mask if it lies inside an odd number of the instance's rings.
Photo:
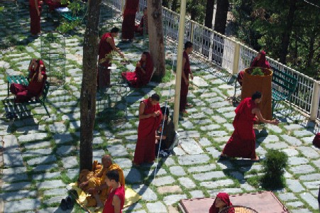
<svg viewBox="0 0 320 213">
<path fill-rule="evenodd" d="M 70 183 L 70 186 L 72 187 L 72 190 L 76 190 L 77 191 L 77 194 L 78 194 L 78 197 L 79 197 L 78 199 L 76 199 L 77 203 L 79 203 L 83 207 L 86 207 L 87 206 L 87 199 L 86 198 L 89 197 L 90 195 L 87 195 L 84 191 L 82 191 L 78 187 L 77 182 Z M 129 187 L 125 187 L 125 201 L 124 201 L 123 208 L 131 206 L 132 204 L 138 202 L 138 200 L 140 200 L 140 199 L 141 199 L 141 196 L 137 192 L 133 191 Z M 88 209 L 91 212 L 94 212 L 94 208 L 88 207 Z M 103 209 L 100 209 L 99 212 L 102 212 L 102 210 Z"/>
</svg>

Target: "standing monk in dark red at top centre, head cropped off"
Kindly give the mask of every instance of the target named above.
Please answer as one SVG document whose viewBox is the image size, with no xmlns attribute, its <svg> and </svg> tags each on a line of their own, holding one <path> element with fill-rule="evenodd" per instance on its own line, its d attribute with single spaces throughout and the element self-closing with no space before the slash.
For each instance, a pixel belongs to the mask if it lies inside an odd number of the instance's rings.
<svg viewBox="0 0 320 213">
<path fill-rule="evenodd" d="M 139 0 L 126 0 L 122 21 L 122 40 L 132 40 L 134 37 L 136 13 Z"/>
</svg>

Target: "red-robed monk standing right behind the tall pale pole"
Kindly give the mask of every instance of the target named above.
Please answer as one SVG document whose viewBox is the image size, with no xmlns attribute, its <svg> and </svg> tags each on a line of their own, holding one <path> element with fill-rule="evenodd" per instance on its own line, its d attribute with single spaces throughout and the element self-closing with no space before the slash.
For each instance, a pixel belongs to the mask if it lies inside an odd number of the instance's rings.
<svg viewBox="0 0 320 213">
<path fill-rule="evenodd" d="M 192 107 L 191 104 L 187 104 L 187 95 L 189 90 L 189 74 L 193 80 L 192 71 L 190 69 L 189 54 L 192 53 L 193 45 L 187 41 L 184 44 L 184 52 L 182 58 L 182 78 L 181 78 L 181 92 L 180 92 L 180 112 L 187 113 L 186 107 Z"/>
</svg>

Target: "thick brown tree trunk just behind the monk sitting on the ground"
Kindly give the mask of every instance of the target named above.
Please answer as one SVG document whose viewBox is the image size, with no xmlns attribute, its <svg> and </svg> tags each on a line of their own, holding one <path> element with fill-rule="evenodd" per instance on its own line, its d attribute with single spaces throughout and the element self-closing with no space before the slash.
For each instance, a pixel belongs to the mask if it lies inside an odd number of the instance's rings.
<svg viewBox="0 0 320 213">
<path fill-rule="evenodd" d="M 165 76 L 165 45 L 163 43 L 162 1 L 148 0 L 149 49 L 155 66 L 155 77 Z"/>
</svg>

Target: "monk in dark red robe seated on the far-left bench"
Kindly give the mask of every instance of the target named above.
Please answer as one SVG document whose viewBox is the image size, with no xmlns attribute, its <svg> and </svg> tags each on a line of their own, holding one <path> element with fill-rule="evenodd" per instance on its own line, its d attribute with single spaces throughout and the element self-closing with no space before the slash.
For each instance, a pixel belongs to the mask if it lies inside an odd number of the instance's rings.
<svg viewBox="0 0 320 213">
<path fill-rule="evenodd" d="M 47 75 L 45 74 L 45 65 L 42 60 L 33 59 L 29 65 L 29 84 L 13 83 L 10 85 L 10 91 L 16 95 L 15 102 L 28 102 L 33 97 L 40 97 L 45 86 Z"/>
</svg>

